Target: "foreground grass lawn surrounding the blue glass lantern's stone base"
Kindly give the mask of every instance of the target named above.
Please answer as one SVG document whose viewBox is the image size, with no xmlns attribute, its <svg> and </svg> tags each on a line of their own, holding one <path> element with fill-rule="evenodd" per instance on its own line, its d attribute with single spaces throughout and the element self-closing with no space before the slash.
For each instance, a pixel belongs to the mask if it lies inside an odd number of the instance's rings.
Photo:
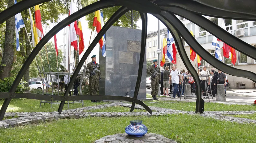
<svg viewBox="0 0 256 143">
<path fill-rule="evenodd" d="M 254 124 L 219 121 L 198 115 L 165 115 L 158 117 L 89 117 L 0 129 L 0 143 L 4 142 L 86 142 L 106 135 L 124 133 L 131 120 L 143 120 L 148 133 L 161 134 L 178 143 L 256 142 Z"/>
</svg>

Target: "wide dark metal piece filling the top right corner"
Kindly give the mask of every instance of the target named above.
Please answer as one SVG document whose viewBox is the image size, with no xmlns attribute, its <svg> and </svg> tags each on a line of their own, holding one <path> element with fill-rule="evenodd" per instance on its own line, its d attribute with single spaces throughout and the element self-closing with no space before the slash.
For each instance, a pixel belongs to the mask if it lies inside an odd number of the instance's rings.
<svg viewBox="0 0 256 143">
<path fill-rule="evenodd" d="M 226 10 L 229 12 L 236 12 L 241 14 L 248 14 L 256 16 L 255 5 L 256 1 L 254 0 L 195 0 L 199 3 L 202 3 L 205 6 L 218 7 L 220 10 Z"/>
</svg>

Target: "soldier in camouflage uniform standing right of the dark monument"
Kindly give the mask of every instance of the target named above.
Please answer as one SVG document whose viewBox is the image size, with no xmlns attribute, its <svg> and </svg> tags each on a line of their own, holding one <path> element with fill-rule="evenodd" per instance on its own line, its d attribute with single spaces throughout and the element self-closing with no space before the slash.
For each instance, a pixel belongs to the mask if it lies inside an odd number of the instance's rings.
<svg viewBox="0 0 256 143">
<path fill-rule="evenodd" d="M 156 98 L 157 94 L 158 94 L 158 88 L 159 88 L 159 84 L 160 84 L 160 80 L 161 80 L 161 70 L 160 68 L 157 67 L 157 59 L 153 60 L 154 65 L 151 65 L 148 69 L 147 69 L 147 74 L 151 75 L 151 95 L 153 97 L 154 100 L 158 100 Z M 153 74 L 154 71 L 156 69 L 159 69 L 158 73 L 160 74 Z"/>
</svg>

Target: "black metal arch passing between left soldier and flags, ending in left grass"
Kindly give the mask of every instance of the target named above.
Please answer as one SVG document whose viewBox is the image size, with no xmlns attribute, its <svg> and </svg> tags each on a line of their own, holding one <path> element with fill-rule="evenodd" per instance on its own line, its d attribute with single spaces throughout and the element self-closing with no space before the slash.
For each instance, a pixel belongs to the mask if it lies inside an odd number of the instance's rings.
<svg viewBox="0 0 256 143">
<path fill-rule="evenodd" d="M 80 62 L 78 63 L 76 70 L 73 73 L 73 76 L 71 77 L 68 85 L 67 85 L 67 90 L 64 93 L 64 96 L 68 95 L 68 91 L 70 91 L 70 89 L 72 88 L 73 83 L 76 80 L 76 77 L 80 71 L 80 69 L 82 68 L 85 60 L 88 58 L 89 54 L 91 53 L 91 51 L 93 50 L 93 48 L 97 45 L 97 43 L 99 42 L 99 40 L 102 38 L 102 36 L 106 33 L 106 31 L 110 28 L 110 26 L 112 26 L 122 15 L 124 15 L 126 12 L 128 12 L 130 9 L 122 6 L 121 8 L 119 8 L 112 16 L 111 18 L 106 22 L 106 24 L 102 27 L 102 29 L 100 30 L 100 32 L 97 34 L 97 36 L 93 39 L 93 42 L 90 44 L 90 46 L 88 47 L 88 49 L 85 51 L 85 54 L 83 55 L 83 57 L 80 59 Z M 65 101 L 61 101 L 60 105 L 59 105 L 59 109 L 58 112 L 61 113 L 63 106 L 64 106 Z"/>
</svg>

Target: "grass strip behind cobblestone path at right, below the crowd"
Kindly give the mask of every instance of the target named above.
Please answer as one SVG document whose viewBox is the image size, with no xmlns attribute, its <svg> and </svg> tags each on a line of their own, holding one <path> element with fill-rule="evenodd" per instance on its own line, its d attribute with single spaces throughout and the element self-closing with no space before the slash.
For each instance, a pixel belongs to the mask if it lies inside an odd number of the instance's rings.
<svg viewBox="0 0 256 143">
<path fill-rule="evenodd" d="M 158 103 L 150 103 L 158 102 Z M 195 111 L 196 102 L 186 101 L 146 101 L 145 104 L 148 106 L 155 106 L 168 109 L 176 109 L 183 111 Z M 256 110 L 256 106 L 252 105 L 228 105 L 221 103 L 205 102 L 204 111 L 252 111 Z"/>
</svg>

